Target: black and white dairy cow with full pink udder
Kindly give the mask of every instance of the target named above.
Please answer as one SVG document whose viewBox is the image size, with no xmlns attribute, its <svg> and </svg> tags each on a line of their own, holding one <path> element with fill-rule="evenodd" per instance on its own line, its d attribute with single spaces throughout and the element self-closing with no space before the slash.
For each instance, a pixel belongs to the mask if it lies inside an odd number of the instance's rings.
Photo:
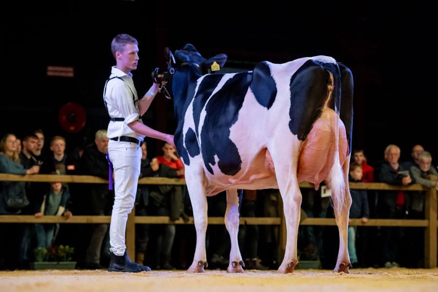
<svg viewBox="0 0 438 292">
<path fill-rule="evenodd" d="M 353 79 L 333 58 L 300 58 L 285 64 L 261 62 L 253 71 L 204 74 L 227 56 L 203 58 L 193 45 L 172 54 L 168 94 L 174 98 L 178 128 L 175 145 L 185 165 L 197 233 L 190 272 L 206 265 L 206 196 L 226 190 L 226 228 L 231 237 L 228 272 L 243 272 L 237 244 L 238 189 L 278 188 L 287 225 L 284 260 L 278 271 L 298 263 L 297 231 L 301 193 L 298 184 L 332 192 L 340 246 L 334 271 L 348 272 L 347 173 L 351 149 Z"/>
</svg>

